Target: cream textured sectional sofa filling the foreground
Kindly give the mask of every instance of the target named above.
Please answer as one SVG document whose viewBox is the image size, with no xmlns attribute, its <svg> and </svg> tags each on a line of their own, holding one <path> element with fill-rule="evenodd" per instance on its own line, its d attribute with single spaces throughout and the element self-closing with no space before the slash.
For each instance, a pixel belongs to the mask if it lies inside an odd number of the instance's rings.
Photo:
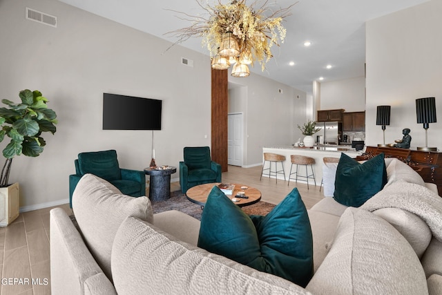
<svg viewBox="0 0 442 295">
<path fill-rule="evenodd" d="M 442 199 L 406 164 L 385 162 L 387 185 L 361 208 L 324 198 L 308 211 L 305 288 L 196 247 L 199 220 L 152 215 L 147 198 L 86 175 L 78 227 L 50 212 L 52 294 L 442 294 Z"/>
</svg>

